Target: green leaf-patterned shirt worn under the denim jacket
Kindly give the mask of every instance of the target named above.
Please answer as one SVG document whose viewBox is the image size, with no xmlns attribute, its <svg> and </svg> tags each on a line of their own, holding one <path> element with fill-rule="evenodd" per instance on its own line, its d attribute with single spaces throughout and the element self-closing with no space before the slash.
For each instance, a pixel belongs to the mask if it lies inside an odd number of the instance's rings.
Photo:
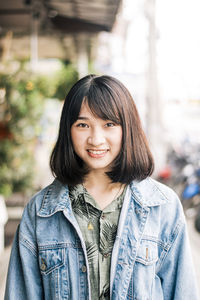
<svg viewBox="0 0 200 300">
<path fill-rule="evenodd" d="M 69 190 L 72 209 L 86 244 L 92 300 L 110 299 L 111 253 L 125 190 L 103 210 L 83 185 Z"/>
</svg>

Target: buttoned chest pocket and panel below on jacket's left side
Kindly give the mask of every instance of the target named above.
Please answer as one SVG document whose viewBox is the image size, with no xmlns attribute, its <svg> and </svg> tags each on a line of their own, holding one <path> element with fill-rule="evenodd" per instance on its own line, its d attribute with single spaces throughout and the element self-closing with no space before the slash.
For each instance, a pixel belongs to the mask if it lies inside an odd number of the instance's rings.
<svg viewBox="0 0 200 300">
<path fill-rule="evenodd" d="M 68 269 L 65 266 L 65 248 L 40 247 L 39 268 L 45 299 L 70 299 Z"/>
</svg>

